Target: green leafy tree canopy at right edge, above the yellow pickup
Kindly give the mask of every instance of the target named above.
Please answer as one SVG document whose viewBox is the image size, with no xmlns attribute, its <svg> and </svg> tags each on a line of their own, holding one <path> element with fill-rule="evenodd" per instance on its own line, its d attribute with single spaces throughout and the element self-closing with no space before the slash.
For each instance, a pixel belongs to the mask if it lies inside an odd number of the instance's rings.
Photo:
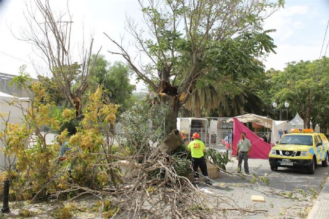
<svg viewBox="0 0 329 219">
<path fill-rule="evenodd" d="M 277 101 L 283 107 L 287 100 L 289 112 L 299 113 L 305 126 L 319 124 L 326 129 L 329 124 L 329 58 L 314 61 L 290 62 L 283 71 L 266 72 L 266 88 L 259 93 L 266 104 Z"/>
</svg>

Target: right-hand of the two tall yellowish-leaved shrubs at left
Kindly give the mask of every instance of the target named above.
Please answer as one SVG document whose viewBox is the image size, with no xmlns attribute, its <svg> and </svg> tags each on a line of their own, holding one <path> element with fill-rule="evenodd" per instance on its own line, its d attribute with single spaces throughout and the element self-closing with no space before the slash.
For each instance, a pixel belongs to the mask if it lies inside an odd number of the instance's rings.
<svg viewBox="0 0 329 219">
<path fill-rule="evenodd" d="M 67 159 L 74 161 L 72 178 L 80 185 L 99 187 L 111 184 L 106 171 L 94 164 L 99 162 L 99 152 L 108 147 L 104 138 L 104 129 L 108 123 L 114 123 L 118 105 L 106 104 L 102 99 L 102 89 L 98 88 L 90 94 L 86 107 L 83 109 L 84 118 L 77 133 L 69 138 L 69 144 L 76 149 Z M 106 150 L 107 151 L 107 150 Z"/>
</svg>

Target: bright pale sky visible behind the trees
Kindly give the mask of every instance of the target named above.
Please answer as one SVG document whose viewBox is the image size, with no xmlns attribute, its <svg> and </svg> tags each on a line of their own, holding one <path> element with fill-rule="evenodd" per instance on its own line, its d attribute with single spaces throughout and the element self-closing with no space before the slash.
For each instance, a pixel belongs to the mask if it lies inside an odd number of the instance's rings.
<svg viewBox="0 0 329 219">
<path fill-rule="evenodd" d="M 53 0 L 54 9 L 65 6 L 65 0 Z M 94 51 L 101 46 L 101 53 L 106 59 L 114 62 L 122 60 L 111 55 L 107 50 L 115 49 L 103 32 L 113 36 L 116 40 L 120 35 L 125 36 L 125 43 L 129 46 L 129 35 L 124 33 L 126 14 L 137 22 L 141 21 L 141 12 L 136 0 L 70 0 L 69 7 L 74 20 L 74 41 L 81 42 L 84 26 L 85 39 L 94 35 Z M 39 68 L 46 68 L 45 64 L 35 56 L 31 45 L 18 41 L 12 35 L 19 36 L 25 26 L 23 11 L 24 0 L 3 0 L 0 2 L 0 72 L 17 75 L 19 67 L 27 64 L 27 71 L 35 77 L 31 63 Z M 329 19 L 328 0 L 286 0 L 284 9 L 273 14 L 266 20 L 264 29 L 277 29 L 270 35 L 278 46 L 277 54 L 270 54 L 264 61 L 266 69 L 283 69 L 285 63 L 299 60 L 315 60 L 320 56 L 324 33 Z M 329 31 L 325 39 L 322 56 L 329 42 Z M 76 45 L 78 47 L 78 45 Z M 326 56 L 329 56 L 329 48 Z M 132 79 L 134 81 L 134 79 Z M 138 90 L 142 85 L 138 84 Z"/>
</svg>

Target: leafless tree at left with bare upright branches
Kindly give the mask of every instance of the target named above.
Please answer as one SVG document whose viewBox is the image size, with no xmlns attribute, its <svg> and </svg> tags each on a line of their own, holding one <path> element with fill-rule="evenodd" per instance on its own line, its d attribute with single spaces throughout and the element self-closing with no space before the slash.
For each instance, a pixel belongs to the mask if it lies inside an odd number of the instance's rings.
<svg viewBox="0 0 329 219">
<path fill-rule="evenodd" d="M 58 89 L 72 107 L 81 114 L 81 96 L 88 86 L 90 56 L 94 39 L 88 46 L 82 42 L 82 48 L 73 50 L 71 43 L 72 15 L 68 4 L 65 13 L 56 15 L 49 0 L 33 0 L 26 3 L 25 13 L 28 28 L 22 32 L 22 39 L 36 48 L 35 53 L 47 64 L 51 77 Z M 75 57 L 80 57 L 77 61 Z M 72 85 L 78 85 L 75 89 Z"/>
</svg>

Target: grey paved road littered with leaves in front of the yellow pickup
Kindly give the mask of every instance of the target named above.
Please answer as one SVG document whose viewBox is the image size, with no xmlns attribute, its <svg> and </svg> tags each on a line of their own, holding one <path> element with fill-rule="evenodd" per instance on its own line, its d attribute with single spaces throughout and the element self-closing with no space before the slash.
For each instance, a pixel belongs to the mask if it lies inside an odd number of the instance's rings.
<svg viewBox="0 0 329 219">
<path fill-rule="evenodd" d="M 229 172 L 237 168 L 237 160 L 232 159 L 226 166 Z M 240 176 L 220 174 L 217 182 L 225 182 L 220 189 L 209 189 L 218 195 L 231 196 L 240 207 L 248 209 L 267 210 L 267 215 L 231 213 L 228 218 L 305 218 L 308 211 L 306 207 L 313 205 L 313 195 L 320 191 L 323 178 L 329 173 L 329 167 L 318 164 L 314 175 L 309 175 L 301 169 L 279 168 L 278 171 L 270 170 L 268 160 L 249 159 L 250 173 L 264 176 L 268 173 L 269 186 L 263 182 L 250 184 L 251 177 L 242 179 Z M 272 193 L 271 193 L 272 192 Z M 289 196 L 284 197 L 284 196 Z M 251 195 L 262 195 L 265 203 L 251 202 Z"/>
</svg>

